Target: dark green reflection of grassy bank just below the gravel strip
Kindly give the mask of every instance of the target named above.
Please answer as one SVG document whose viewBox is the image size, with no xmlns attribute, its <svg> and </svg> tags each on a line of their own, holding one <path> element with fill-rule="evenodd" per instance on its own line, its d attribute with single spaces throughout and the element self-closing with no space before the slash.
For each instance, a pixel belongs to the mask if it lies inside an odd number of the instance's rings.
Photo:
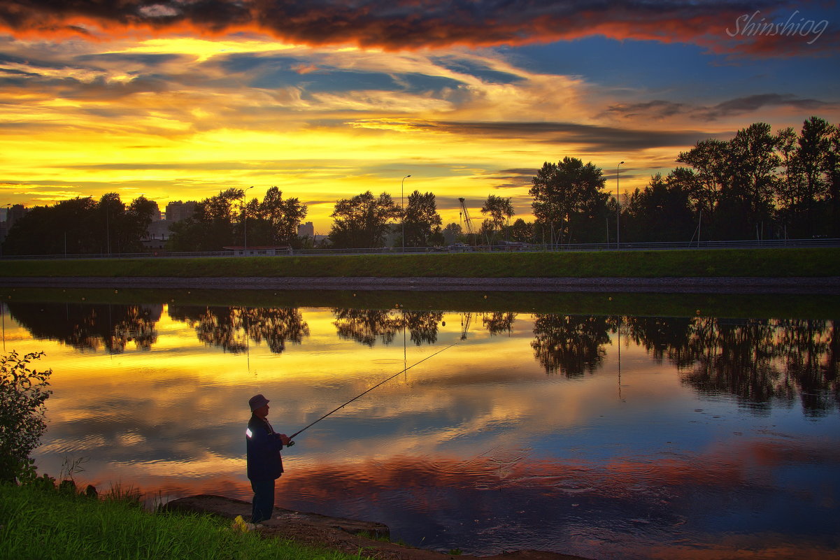
<svg viewBox="0 0 840 560">
<path fill-rule="evenodd" d="M 840 298 L 777 294 L 652 294 L 601 292 L 388 291 L 388 290 L 119 290 L 104 288 L 0 288 L 0 300 L 60 305 L 332 307 L 407 311 L 563 313 L 656 317 L 840 317 Z"/>
</svg>

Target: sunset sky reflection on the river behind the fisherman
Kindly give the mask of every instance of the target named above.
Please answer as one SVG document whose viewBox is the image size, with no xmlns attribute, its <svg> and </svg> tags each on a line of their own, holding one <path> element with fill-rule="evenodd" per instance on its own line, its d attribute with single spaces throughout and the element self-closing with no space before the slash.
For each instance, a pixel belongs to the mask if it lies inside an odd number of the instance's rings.
<svg viewBox="0 0 840 560">
<path fill-rule="evenodd" d="M 57 474 L 66 456 L 88 457 L 79 478 L 106 487 L 130 481 L 164 493 L 247 499 L 250 395 L 268 395 L 270 421 L 294 432 L 402 369 L 403 352 L 411 365 L 459 342 L 465 319 L 424 316 L 433 318 L 436 343 L 421 337 L 417 346 L 407 334 L 403 350 L 402 323 L 389 344 L 377 338 L 368 346 L 339 335 L 334 310 L 303 308 L 309 332 L 300 344 L 277 353 L 252 341 L 244 353 L 230 353 L 205 346 L 194 326 L 163 311 L 155 343 L 123 353 L 81 355 L 7 325 L 18 351 L 46 350 L 43 365 L 55 371 L 41 471 Z M 539 326 L 541 318 L 550 328 Z M 285 453 L 281 505 L 382 516 L 409 542 L 426 536 L 424 546 L 564 542 L 564 552 L 625 557 L 636 554 L 625 554 L 633 547 L 638 557 L 669 550 L 707 557 L 731 527 L 788 534 L 786 505 L 802 519 L 810 510 L 823 514 L 816 530 L 791 534 L 806 551 L 811 536 L 825 546 L 829 531 L 819 527 L 837 520 L 836 503 L 826 499 L 836 492 L 830 481 L 840 464 L 831 451 L 840 425 L 828 414 L 836 406 L 802 416 L 771 391 L 761 393 L 770 400 L 757 401 L 766 415 L 759 416 L 743 406 L 753 402 L 743 389 L 755 382 L 773 388 L 779 378 L 757 377 L 738 360 L 770 348 L 763 364 L 772 369 L 760 371 L 785 372 L 792 390 L 831 398 L 836 383 L 819 368 L 836 360 L 833 324 L 624 321 L 619 379 L 614 319 L 475 314 L 465 341 L 298 437 Z M 532 346 L 539 337 L 547 361 Z M 732 352 L 740 369 L 718 365 Z M 787 364 L 811 369 L 795 377 L 802 370 Z M 823 377 L 815 377 L 819 371 Z M 705 544 L 684 547 L 681 538 Z M 785 550 L 785 538 L 768 538 L 758 550 Z M 659 547 L 663 539 L 673 548 Z"/>
</svg>

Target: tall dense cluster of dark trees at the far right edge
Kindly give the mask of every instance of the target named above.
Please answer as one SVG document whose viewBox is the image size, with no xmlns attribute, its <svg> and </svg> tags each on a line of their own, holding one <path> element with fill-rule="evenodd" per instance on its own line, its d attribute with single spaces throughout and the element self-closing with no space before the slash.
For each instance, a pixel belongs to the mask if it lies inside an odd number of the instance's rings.
<svg viewBox="0 0 840 560">
<path fill-rule="evenodd" d="M 822 118 L 799 133 L 753 123 L 677 161 L 688 167 L 654 175 L 628 197 L 629 238 L 840 237 L 840 128 Z"/>
</svg>

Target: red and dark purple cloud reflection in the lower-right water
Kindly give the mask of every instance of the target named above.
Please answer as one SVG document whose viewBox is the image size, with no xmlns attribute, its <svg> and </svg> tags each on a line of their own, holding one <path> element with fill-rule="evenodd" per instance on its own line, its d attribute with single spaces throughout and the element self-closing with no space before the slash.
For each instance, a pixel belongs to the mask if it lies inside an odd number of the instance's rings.
<svg viewBox="0 0 840 560">
<path fill-rule="evenodd" d="M 750 516 L 740 515 L 745 504 L 755 510 L 774 509 L 780 496 L 768 491 L 764 479 L 749 476 L 749 465 L 767 447 L 777 445 L 730 442 L 709 455 L 656 461 L 625 457 L 606 464 L 535 460 L 517 447 L 497 448 L 470 460 L 392 455 L 290 469 L 281 480 L 281 505 L 300 509 L 316 503 L 333 515 L 368 518 L 378 512 L 381 517 L 375 521 L 389 523 L 395 537 L 410 543 L 424 539 L 424 545 L 440 549 L 457 544 L 466 552 L 499 552 L 493 549 L 499 542 L 522 539 L 530 547 L 556 550 L 563 543 L 568 548 L 562 552 L 584 553 L 587 547 L 581 545 L 589 542 L 591 551 L 590 541 L 594 541 L 602 555 L 647 557 L 648 550 L 658 548 L 660 542 L 682 546 L 687 539 L 698 543 L 692 550 L 702 555 L 706 547 L 717 546 L 721 534 L 753 531 Z M 819 453 L 822 444 L 810 441 L 793 446 L 795 455 L 806 457 Z M 728 460 L 722 461 L 722 455 Z M 442 488 L 446 491 L 441 492 Z M 789 488 L 781 494 L 790 499 L 797 492 Z M 498 495 L 505 497 L 501 507 L 496 503 Z M 828 519 L 816 521 L 825 531 L 832 510 L 813 500 L 797 509 L 812 507 L 816 507 L 814 513 L 827 514 Z M 731 516 L 737 517 L 725 527 L 715 521 Z M 759 550 L 787 544 L 785 536 L 774 532 L 775 525 L 789 521 L 787 516 L 771 521 L 773 528 Z M 449 540 L 447 530 L 464 523 L 470 529 L 461 534 L 469 536 L 459 542 Z M 641 533 L 654 537 L 646 540 Z M 801 552 L 832 546 L 831 537 L 815 533 L 816 542 L 805 536 L 799 540 Z"/>
</svg>

